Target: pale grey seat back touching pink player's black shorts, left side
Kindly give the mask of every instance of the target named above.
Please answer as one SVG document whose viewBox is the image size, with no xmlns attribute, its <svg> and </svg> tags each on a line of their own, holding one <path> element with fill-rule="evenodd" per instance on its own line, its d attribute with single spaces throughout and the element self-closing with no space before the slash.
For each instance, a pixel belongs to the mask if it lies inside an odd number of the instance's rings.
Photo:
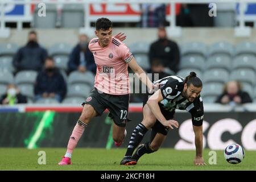
<svg viewBox="0 0 256 182">
<path fill-rule="evenodd" d="M 68 94 L 67 97 L 88 97 L 90 91 L 92 90 L 91 86 L 86 84 L 72 84 L 68 85 Z"/>
</svg>

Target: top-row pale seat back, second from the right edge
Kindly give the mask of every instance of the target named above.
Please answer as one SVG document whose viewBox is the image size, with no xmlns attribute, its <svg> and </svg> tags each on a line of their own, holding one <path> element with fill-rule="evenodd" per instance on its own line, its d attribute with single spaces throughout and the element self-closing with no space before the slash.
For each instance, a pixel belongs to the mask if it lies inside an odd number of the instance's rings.
<svg viewBox="0 0 256 182">
<path fill-rule="evenodd" d="M 227 42 L 217 42 L 209 46 L 209 56 L 213 55 L 226 55 L 233 56 L 234 47 Z"/>
</svg>

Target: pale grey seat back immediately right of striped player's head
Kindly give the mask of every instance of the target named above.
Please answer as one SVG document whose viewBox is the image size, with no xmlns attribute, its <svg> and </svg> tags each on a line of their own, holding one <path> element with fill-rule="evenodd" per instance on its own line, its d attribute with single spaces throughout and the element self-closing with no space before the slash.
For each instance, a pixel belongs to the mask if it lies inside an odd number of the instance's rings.
<svg viewBox="0 0 256 182">
<path fill-rule="evenodd" d="M 229 72 L 225 69 L 221 68 L 214 68 L 209 69 L 206 72 L 204 72 L 202 81 L 204 83 L 207 82 L 220 82 L 224 84 L 229 80 Z"/>
</svg>

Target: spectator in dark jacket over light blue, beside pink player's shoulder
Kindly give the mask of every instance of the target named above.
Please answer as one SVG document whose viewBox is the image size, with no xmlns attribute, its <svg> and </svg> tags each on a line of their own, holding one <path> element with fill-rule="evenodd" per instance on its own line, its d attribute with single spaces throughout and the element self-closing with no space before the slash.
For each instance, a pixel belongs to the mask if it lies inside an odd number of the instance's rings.
<svg viewBox="0 0 256 182">
<path fill-rule="evenodd" d="M 89 39 L 85 34 L 80 35 L 79 43 L 73 48 L 69 55 L 68 69 L 69 72 L 79 71 L 84 73 L 91 71 L 96 73 L 96 64 L 94 63 L 93 53 L 88 49 Z"/>
</svg>

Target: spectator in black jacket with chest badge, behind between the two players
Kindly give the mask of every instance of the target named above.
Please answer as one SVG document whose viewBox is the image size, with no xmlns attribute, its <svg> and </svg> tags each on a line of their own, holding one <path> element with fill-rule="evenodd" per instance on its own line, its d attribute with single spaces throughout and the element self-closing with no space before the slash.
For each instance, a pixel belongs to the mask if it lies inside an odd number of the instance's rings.
<svg viewBox="0 0 256 182">
<path fill-rule="evenodd" d="M 165 68 L 169 68 L 175 73 L 178 71 L 180 50 L 176 42 L 167 38 L 164 27 L 158 28 L 158 40 L 151 44 L 148 55 L 151 65 L 154 59 L 158 59 L 162 61 Z"/>
</svg>

